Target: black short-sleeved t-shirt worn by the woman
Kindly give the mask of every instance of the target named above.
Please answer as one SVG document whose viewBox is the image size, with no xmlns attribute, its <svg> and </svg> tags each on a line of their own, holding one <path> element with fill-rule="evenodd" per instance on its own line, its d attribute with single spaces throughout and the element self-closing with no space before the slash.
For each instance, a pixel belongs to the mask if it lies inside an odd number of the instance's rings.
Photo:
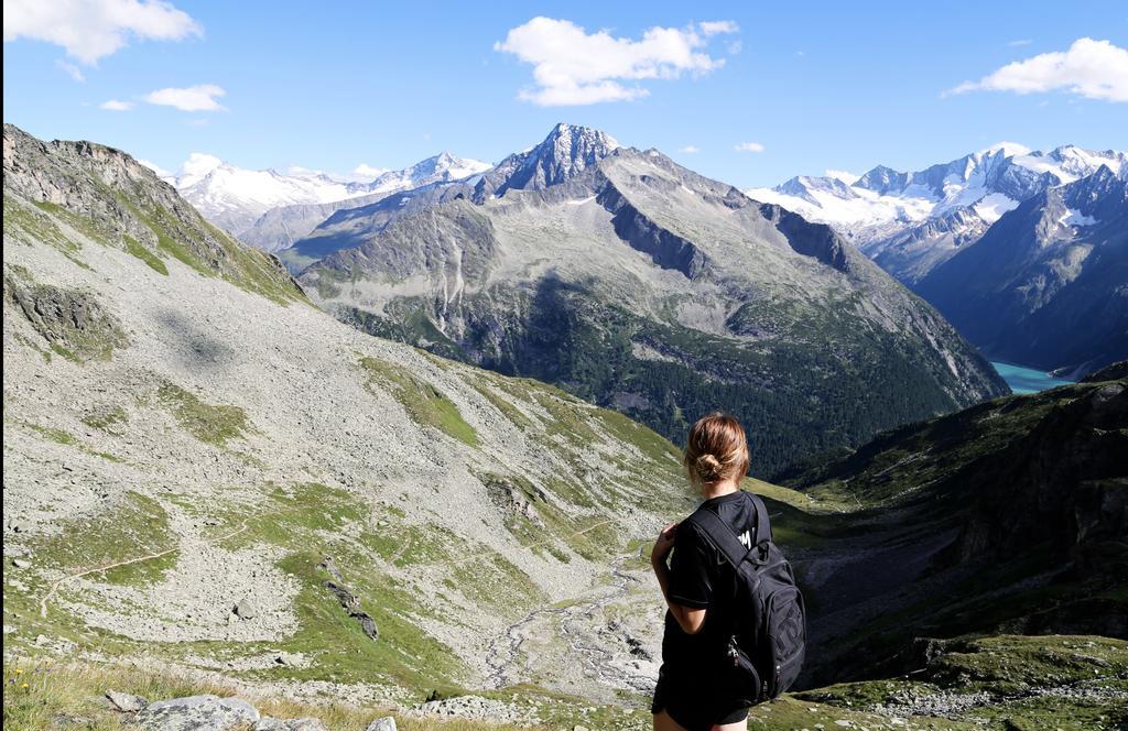
<svg viewBox="0 0 1128 731">
<path fill-rule="evenodd" d="M 742 543 L 756 540 L 756 508 L 751 496 L 734 492 L 702 503 L 728 523 Z M 695 635 L 686 634 L 670 611 L 662 637 L 662 673 L 691 685 L 712 685 L 714 671 L 724 662 L 732 635 L 729 615 L 734 595 L 735 570 L 710 540 L 688 521 L 678 525 L 670 557 L 669 596 L 673 604 L 705 609 L 705 624 Z"/>
</svg>

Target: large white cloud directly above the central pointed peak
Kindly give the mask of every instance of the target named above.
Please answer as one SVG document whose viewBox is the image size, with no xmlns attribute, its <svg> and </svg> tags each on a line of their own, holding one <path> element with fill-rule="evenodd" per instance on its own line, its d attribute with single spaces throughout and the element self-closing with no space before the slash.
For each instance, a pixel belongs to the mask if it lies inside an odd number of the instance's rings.
<svg viewBox="0 0 1128 731">
<path fill-rule="evenodd" d="M 536 88 L 518 98 L 539 106 L 578 106 L 600 102 L 628 102 L 647 96 L 626 81 L 676 79 L 685 72 L 707 73 L 723 59 L 704 53 L 708 37 L 735 33 L 729 20 L 686 28 L 653 27 L 642 38 L 616 38 L 607 30 L 588 33 L 570 20 L 537 17 L 510 29 L 494 50 L 512 53 L 532 64 Z"/>
</svg>

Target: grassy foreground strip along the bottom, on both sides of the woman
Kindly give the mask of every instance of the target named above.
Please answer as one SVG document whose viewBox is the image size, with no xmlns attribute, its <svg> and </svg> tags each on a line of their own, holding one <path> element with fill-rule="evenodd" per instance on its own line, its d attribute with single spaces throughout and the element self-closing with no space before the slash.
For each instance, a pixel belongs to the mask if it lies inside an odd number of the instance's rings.
<svg viewBox="0 0 1128 731">
<path fill-rule="evenodd" d="M 386 708 L 281 696 L 248 696 L 218 679 L 188 678 L 153 668 L 53 660 L 6 662 L 5 728 L 41 729 L 79 717 L 89 729 L 127 728 L 126 716 L 102 697 L 107 689 L 150 699 L 212 693 L 249 697 L 264 714 L 314 716 L 334 731 L 360 731 Z M 649 729 L 645 712 L 580 706 L 538 692 L 495 694 L 536 707 L 545 729 L 585 724 Z M 1086 636 L 997 636 L 960 640 L 910 677 L 853 682 L 785 694 L 757 706 L 749 726 L 783 729 L 1117 729 L 1128 723 L 1128 643 Z M 510 729 L 476 721 L 396 716 L 399 728 L 429 731 Z"/>
</svg>

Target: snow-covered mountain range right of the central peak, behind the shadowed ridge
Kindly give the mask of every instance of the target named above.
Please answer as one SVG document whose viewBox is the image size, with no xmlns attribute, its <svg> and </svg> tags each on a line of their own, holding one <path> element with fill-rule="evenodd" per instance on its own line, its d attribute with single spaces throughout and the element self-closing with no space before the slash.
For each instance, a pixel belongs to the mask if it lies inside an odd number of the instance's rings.
<svg viewBox="0 0 1128 731">
<path fill-rule="evenodd" d="M 799 176 L 746 192 L 835 227 L 887 272 L 915 285 L 1006 211 L 1101 167 L 1128 175 L 1128 152 L 1074 146 L 1039 152 L 1001 143 L 913 173 L 879 165 L 856 178 Z"/>
</svg>

